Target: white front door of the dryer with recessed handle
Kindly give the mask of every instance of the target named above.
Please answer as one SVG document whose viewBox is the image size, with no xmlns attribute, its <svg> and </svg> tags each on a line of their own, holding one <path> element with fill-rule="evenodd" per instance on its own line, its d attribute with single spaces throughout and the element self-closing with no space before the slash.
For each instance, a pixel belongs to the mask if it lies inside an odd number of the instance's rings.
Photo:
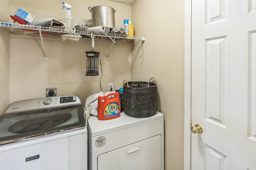
<svg viewBox="0 0 256 170">
<path fill-rule="evenodd" d="M 161 135 L 98 156 L 98 170 L 161 170 Z"/>
</svg>

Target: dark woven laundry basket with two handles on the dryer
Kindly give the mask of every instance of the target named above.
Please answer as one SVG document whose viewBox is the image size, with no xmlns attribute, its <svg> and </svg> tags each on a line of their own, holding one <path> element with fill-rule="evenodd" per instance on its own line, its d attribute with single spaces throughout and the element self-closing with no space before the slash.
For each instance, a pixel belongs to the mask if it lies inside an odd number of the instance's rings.
<svg viewBox="0 0 256 170">
<path fill-rule="evenodd" d="M 154 82 L 150 82 L 154 79 Z M 151 117 L 157 111 L 156 79 L 149 82 L 127 82 L 124 80 L 124 113 L 130 117 Z"/>
</svg>

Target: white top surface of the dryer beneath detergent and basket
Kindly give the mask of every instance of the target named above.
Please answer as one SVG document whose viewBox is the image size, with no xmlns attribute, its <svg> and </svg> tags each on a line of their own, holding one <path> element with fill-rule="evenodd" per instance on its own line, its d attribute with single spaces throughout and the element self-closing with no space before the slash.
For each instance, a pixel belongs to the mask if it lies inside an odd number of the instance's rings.
<svg viewBox="0 0 256 170">
<path fill-rule="evenodd" d="M 164 115 L 158 111 L 156 112 L 156 115 L 147 118 L 129 117 L 125 115 L 124 112 L 121 113 L 120 117 L 110 120 L 99 120 L 96 116 L 90 116 L 90 119 L 88 120 L 88 128 L 90 128 L 89 131 L 92 137 L 95 137 L 158 119 L 164 119 Z"/>
</svg>

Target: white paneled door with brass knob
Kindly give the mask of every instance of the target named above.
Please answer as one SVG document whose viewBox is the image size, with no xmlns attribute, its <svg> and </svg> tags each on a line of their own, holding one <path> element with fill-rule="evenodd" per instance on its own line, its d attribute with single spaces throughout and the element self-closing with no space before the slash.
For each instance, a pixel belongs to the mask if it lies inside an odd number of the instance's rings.
<svg viewBox="0 0 256 170">
<path fill-rule="evenodd" d="M 192 0 L 191 21 L 192 170 L 256 170 L 256 0 Z"/>
</svg>

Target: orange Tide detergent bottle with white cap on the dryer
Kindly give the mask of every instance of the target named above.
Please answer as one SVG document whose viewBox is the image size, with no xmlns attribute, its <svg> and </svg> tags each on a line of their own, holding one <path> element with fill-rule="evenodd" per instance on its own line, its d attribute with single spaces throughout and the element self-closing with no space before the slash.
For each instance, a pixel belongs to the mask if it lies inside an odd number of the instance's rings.
<svg viewBox="0 0 256 170">
<path fill-rule="evenodd" d="M 107 96 L 105 96 L 103 92 L 100 92 L 97 109 L 98 118 L 100 120 L 108 120 L 120 117 L 120 109 L 120 98 L 118 90 L 116 90 L 115 93 L 108 94 Z"/>
</svg>

